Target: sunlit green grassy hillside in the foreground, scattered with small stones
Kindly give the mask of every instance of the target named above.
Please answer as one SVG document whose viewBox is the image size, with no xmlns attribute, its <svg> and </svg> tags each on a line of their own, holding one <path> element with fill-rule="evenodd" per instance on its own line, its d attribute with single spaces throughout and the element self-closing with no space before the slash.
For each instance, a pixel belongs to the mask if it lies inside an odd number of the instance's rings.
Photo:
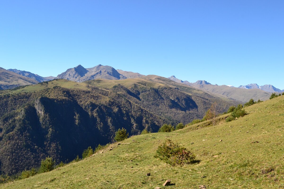
<svg viewBox="0 0 284 189">
<path fill-rule="evenodd" d="M 283 188 L 284 97 L 246 110 L 248 115 L 216 126 L 199 123 L 133 136 L 123 141 L 130 144 L 112 144 L 111 151 L 0 188 Z M 194 152 L 200 162 L 171 167 L 154 158 L 166 138 Z M 163 187 L 166 179 L 173 185 Z"/>
</svg>

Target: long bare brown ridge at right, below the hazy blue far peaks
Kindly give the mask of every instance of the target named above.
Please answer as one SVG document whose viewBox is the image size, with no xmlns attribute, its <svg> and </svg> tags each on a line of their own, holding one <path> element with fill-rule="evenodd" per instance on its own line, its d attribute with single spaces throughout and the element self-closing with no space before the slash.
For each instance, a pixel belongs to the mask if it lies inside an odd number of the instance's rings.
<svg viewBox="0 0 284 189">
<path fill-rule="evenodd" d="M 211 92 L 213 94 L 219 94 L 223 95 L 235 100 L 239 100 L 242 102 L 247 102 L 251 98 L 254 100 L 267 100 L 269 99 L 271 93 L 266 92 L 261 90 L 260 88 L 258 89 L 251 89 L 251 90 L 246 90 L 245 88 L 236 88 L 233 86 L 227 86 L 227 85 L 212 85 L 209 82 L 205 80 L 198 80 L 195 83 L 190 83 L 188 81 L 182 81 L 177 79 L 176 77 L 172 76 L 169 77 L 169 79 L 178 82 L 178 83 L 183 83 L 186 85 L 193 86 L 194 88 L 202 89 L 207 92 Z"/>
</svg>

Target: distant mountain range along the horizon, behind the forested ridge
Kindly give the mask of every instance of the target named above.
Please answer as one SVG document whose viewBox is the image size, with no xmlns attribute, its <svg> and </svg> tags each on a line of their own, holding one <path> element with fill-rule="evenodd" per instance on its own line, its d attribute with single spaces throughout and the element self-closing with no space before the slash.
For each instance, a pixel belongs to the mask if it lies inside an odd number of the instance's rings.
<svg viewBox="0 0 284 189">
<path fill-rule="evenodd" d="M 84 68 L 82 65 L 78 65 L 74 68 L 67 69 L 65 72 L 59 74 L 57 77 L 41 77 L 37 74 L 21 71 L 17 69 L 8 69 L 3 71 L 2 77 L 0 78 L 0 90 L 2 89 L 12 89 L 14 87 L 36 84 L 38 82 L 44 82 L 57 79 L 66 79 L 75 82 L 85 82 L 93 79 L 108 79 L 108 80 L 123 80 L 126 78 L 140 78 L 144 75 L 139 73 L 133 73 L 130 71 L 123 71 L 120 69 L 114 69 L 111 66 L 97 65 L 91 68 Z M 10 75 L 9 77 L 3 77 L 5 74 Z M 16 75 L 16 74 L 18 75 Z M 27 79 L 30 78 L 30 79 Z M 246 86 L 239 86 L 238 88 L 233 86 L 225 85 L 212 85 L 211 83 L 205 80 L 198 80 L 196 82 L 183 81 L 175 76 L 169 77 L 170 80 L 173 80 L 177 83 L 185 84 L 210 92 L 212 94 L 223 95 L 238 101 L 247 102 L 249 99 L 253 98 L 254 100 L 267 100 L 270 96 L 270 93 L 277 92 L 281 93 L 284 90 L 275 88 L 272 85 L 258 86 L 257 84 L 249 84 Z M 230 88 L 229 88 L 230 87 Z M 249 89 L 249 90 L 247 90 Z"/>
</svg>

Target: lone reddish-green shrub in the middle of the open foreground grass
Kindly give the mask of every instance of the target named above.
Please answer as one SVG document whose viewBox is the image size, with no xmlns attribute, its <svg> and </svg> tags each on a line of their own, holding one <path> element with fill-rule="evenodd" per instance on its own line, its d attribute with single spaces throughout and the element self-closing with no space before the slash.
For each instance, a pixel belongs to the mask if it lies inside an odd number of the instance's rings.
<svg viewBox="0 0 284 189">
<path fill-rule="evenodd" d="M 162 145 L 158 146 L 156 153 L 155 158 L 160 158 L 172 166 L 185 165 L 195 160 L 193 153 L 173 143 L 170 139 L 166 139 Z"/>
</svg>

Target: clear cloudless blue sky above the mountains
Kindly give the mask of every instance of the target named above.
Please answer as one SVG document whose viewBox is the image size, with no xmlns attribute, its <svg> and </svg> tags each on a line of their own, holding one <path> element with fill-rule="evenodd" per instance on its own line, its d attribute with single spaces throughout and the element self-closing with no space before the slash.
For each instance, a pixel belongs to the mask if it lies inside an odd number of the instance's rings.
<svg viewBox="0 0 284 189">
<path fill-rule="evenodd" d="M 0 67 L 81 64 L 284 89 L 284 1 L 0 1 Z"/>
</svg>

